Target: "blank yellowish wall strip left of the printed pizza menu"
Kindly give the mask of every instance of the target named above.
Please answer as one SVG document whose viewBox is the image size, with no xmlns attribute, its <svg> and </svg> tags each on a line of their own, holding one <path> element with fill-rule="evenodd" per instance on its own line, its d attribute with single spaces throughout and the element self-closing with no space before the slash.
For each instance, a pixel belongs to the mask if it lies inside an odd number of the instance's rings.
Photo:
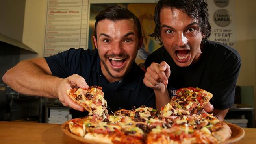
<svg viewBox="0 0 256 144">
<path fill-rule="evenodd" d="M 43 57 L 47 0 L 26 0 L 22 43 L 37 54 L 21 50 L 20 61 Z"/>
</svg>

